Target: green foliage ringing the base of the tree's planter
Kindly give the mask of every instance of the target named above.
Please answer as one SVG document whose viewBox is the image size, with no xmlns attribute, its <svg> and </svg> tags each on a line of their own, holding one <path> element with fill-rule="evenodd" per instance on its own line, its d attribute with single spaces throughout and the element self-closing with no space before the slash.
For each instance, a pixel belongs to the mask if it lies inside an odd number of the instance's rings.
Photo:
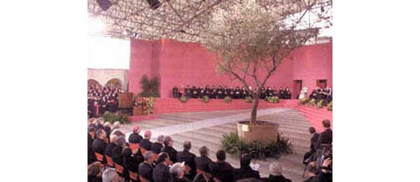
<svg viewBox="0 0 420 182">
<path fill-rule="evenodd" d="M 279 158 L 281 155 L 293 153 L 293 145 L 283 134 L 277 135 L 277 141 L 264 145 L 260 141 L 247 143 L 239 139 L 236 132 L 224 134 L 222 148 L 226 153 L 239 157 L 243 153 L 255 153 L 255 158 Z"/>
</svg>

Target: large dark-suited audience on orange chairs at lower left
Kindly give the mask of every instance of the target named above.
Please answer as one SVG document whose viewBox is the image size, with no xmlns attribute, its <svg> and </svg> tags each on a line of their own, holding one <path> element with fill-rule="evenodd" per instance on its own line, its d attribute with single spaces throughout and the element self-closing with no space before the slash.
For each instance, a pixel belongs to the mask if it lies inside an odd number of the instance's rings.
<svg viewBox="0 0 420 182">
<path fill-rule="evenodd" d="M 209 148 L 206 146 L 200 148 L 200 156 L 190 153 L 190 141 L 184 142 L 183 151 L 176 151 L 171 137 L 159 136 L 158 141 L 151 142 L 151 132 L 146 130 L 142 137 L 138 126 L 133 127 L 128 143 L 124 132 L 118 129 L 111 132 L 111 139 L 106 137 L 101 126 L 91 124 L 88 131 L 88 169 L 104 166 L 106 170 L 118 174 L 113 175 L 116 179 L 149 182 L 230 182 L 249 178 L 257 181 L 290 181 L 283 176 L 279 162 L 270 165 L 267 178 L 260 178 L 259 172 L 250 167 L 251 156 L 248 154 L 241 155 L 241 166 L 235 169 L 225 162 L 223 150 L 217 151 L 216 161 L 209 158 Z M 90 153 L 94 153 L 93 158 Z M 109 176 L 104 176 L 109 172 L 105 171 L 101 179 L 100 171 L 88 170 L 88 181 L 109 181 Z"/>
</svg>

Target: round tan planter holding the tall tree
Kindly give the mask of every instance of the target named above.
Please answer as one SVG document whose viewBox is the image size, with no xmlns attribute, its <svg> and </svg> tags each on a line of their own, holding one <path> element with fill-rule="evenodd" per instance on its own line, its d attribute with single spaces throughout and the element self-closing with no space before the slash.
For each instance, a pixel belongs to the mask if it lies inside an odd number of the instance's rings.
<svg viewBox="0 0 420 182">
<path fill-rule="evenodd" d="M 276 141 L 279 125 L 265 121 L 257 121 L 255 125 L 249 125 L 248 121 L 237 123 L 239 139 L 251 142 L 261 141 L 262 144 L 269 144 Z"/>
</svg>

